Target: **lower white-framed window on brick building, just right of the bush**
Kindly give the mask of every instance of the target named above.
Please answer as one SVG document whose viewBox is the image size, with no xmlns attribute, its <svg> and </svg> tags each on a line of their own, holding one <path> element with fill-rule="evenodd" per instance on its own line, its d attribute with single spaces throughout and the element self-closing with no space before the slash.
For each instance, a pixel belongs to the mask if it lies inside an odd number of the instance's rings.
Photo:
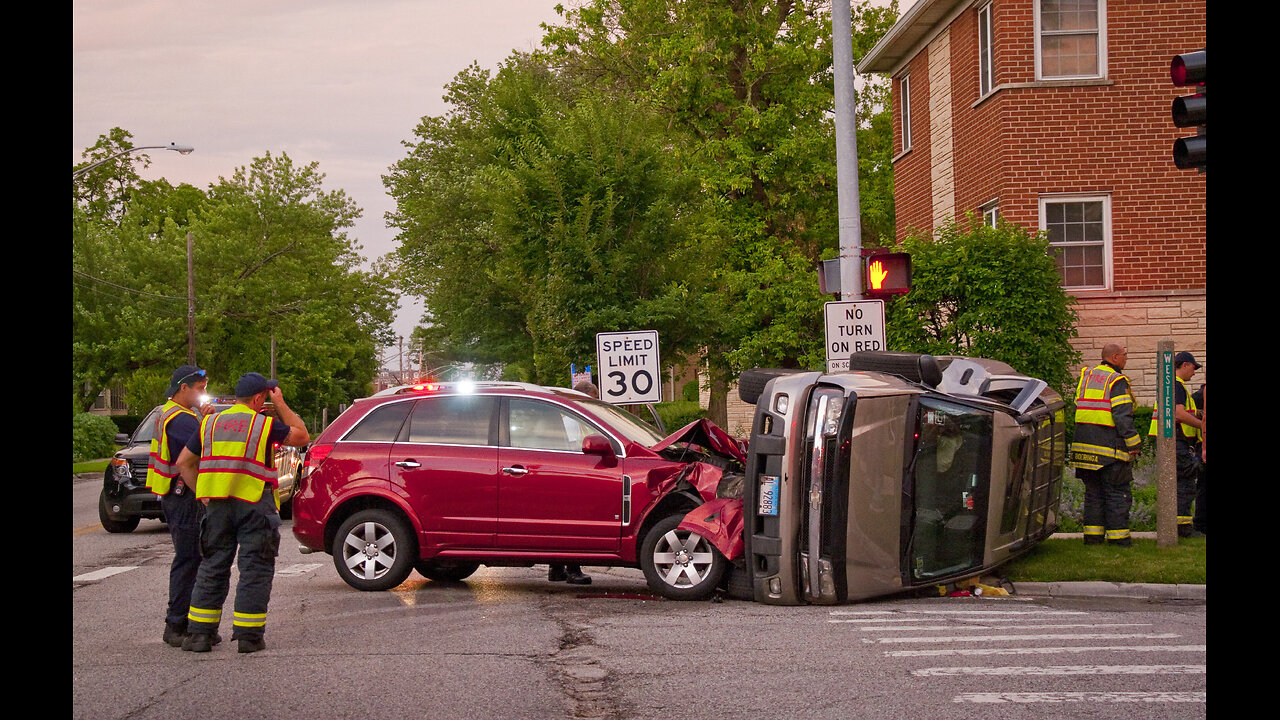
<svg viewBox="0 0 1280 720">
<path fill-rule="evenodd" d="M 1039 210 L 1062 287 L 1106 290 L 1111 283 L 1111 197 L 1044 196 Z"/>
</svg>

